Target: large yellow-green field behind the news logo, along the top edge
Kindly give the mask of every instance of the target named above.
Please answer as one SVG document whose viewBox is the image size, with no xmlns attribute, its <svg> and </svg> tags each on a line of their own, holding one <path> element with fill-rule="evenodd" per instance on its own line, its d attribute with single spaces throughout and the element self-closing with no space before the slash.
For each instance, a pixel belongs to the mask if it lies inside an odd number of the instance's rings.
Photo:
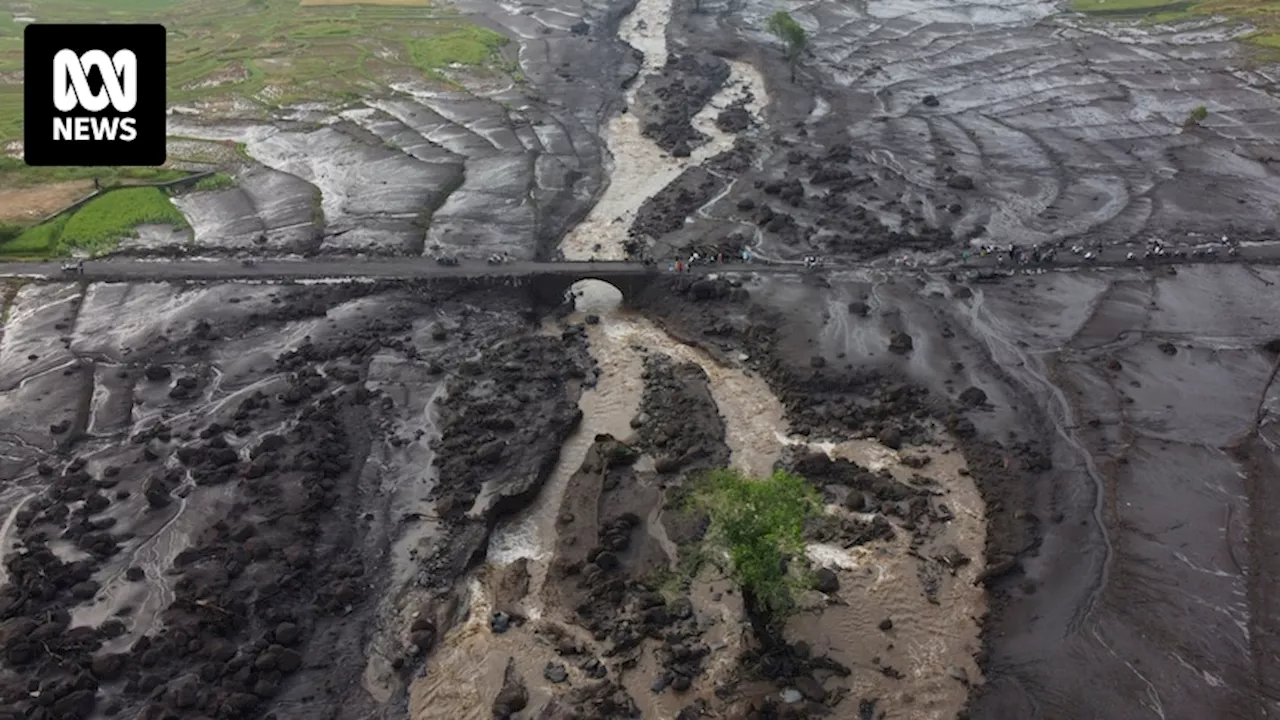
<svg viewBox="0 0 1280 720">
<path fill-rule="evenodd" d="M 332 0 L 328 0 L 332 3 Z M 388 3 L 388 0 L 383 0 Z M 392 77 L 448 82 L 454 64 L 507 72 L 506 38 L 422 0 L 40 0 L 40 22 L 160 22 L 169 28 L 169 104 L 243 99 L 264 109 L 349 100 Z M 0 15 L 0 146 L 22 137 L 22 31 Z"/>
</svg>

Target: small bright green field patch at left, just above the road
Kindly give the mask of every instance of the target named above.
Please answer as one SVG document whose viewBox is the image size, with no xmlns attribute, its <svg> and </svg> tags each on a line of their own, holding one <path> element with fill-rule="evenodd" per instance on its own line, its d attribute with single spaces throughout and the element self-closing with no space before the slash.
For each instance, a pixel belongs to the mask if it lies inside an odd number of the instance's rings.
<svg viewBox="0 0 1280 720">
<path fill-rule="evenodd" d="M 47 258 L 72 251 L 101 255 L 147 223 L 187 227 L 187 219 L 163 190 L 114 190 L 74 213 L 27 228 L 17 237 L 0 242 L 0 258 Z"/>
</svg>

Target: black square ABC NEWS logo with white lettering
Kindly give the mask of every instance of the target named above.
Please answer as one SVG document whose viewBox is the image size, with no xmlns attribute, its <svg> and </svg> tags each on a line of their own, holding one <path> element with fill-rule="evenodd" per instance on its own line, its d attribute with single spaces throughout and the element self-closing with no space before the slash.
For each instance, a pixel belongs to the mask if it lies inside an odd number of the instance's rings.
<svg viewBox="0 0 1280 720">
<path fill-rule="evenodd" d="M 164 164 L 164 26 L 36 23 L 24 45 L 28 165 Z"/>
</svg>

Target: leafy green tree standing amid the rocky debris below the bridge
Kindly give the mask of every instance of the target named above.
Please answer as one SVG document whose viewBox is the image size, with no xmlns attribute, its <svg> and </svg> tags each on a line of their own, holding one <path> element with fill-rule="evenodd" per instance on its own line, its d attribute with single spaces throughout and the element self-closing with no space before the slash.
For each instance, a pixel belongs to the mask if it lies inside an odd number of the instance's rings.
<svg viewBox="0 0 1280 720">
<path fill-rule="evenodd" d="M 804 478 L 778 470 L 753 479 L 737 470 L 713 470 L 694 487 L 695 509 L 710 518 L 707 541 L 728 556 L 756 638 L 769 644 L 795 611 L 797 589 L 808 587 L 804 528 L 818 512 L 817 491 Z"/>
</svg>

